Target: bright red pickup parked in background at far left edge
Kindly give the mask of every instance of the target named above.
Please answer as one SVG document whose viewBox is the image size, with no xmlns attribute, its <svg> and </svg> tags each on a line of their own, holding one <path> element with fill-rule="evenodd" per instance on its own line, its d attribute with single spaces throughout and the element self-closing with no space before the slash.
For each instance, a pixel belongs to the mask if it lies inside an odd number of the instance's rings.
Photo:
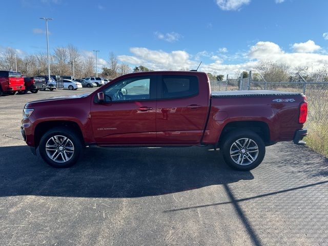
<svg viewBox="0 0 328 246">
<path fill-rule="evenodd" d="M 14 95 L 17 91 L 24 91 L 24 78 L 22 74 L 12 71 L 0 71 L 0 96 Z"/>
</svg>

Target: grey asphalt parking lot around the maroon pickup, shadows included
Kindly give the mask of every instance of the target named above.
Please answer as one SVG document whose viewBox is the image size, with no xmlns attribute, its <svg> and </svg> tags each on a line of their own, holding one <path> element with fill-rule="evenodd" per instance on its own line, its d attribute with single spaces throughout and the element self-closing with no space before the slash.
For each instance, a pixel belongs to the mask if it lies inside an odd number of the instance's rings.
<svg viewBox="0 0 328 246">
<path fill-rule="evenodd" d="M 93 90 L 0 97 L 0 245 L 328 245 L 328 160 L 291 142 L 251 172 L 201 147 L 31 155 L 25 103 Z"/>
</svg>

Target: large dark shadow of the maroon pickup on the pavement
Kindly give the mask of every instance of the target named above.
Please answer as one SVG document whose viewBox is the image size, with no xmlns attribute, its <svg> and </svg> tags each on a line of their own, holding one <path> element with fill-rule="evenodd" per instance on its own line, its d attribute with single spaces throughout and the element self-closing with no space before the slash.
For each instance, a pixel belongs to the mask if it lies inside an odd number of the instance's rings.
<svg viewBox="0 0 328 246">
<path fill-rule="evenodd" d="M 86 148 L 69 169 L 54 169 L 27 146 L 0 147 L 0 196 L 142 197 L 253 179 L 206 148 Z"/>
</svg>

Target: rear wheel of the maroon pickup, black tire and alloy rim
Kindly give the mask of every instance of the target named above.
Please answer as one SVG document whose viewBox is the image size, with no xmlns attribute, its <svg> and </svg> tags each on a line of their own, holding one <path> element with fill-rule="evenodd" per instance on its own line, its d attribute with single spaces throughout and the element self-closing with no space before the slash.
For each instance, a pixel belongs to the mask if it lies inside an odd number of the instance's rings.
<svg viewBox="0 0 328 246">
<path fill-rule="evenodd" d="M 265 155 L 265 145 L 262 138 L 255 132 L 237 130 L 228 132 L 223 138 L 221 151 L 224 160 L 231 168 L 249 171 L 262 162 Z"/>
</svg>

